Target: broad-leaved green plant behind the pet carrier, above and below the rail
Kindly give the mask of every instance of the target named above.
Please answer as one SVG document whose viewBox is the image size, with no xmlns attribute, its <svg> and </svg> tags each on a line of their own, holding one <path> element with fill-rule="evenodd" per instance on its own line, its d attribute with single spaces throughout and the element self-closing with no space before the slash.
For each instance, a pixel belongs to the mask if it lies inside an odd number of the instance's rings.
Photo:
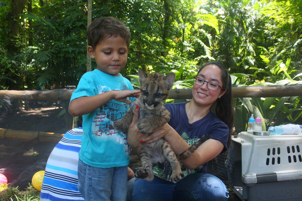
<svg viewBox="0 0 302 201">
<path fill-rule="evenodd" d="M 262 61 L 267 64 L 269 70 L 257 69 L 254 74 L 259 72 L 265 72 L 267 80 L 261 80 L 257 83 L 249 86 L 260 85 L 298 85 L 302 84 L 302 73 L 297 75 L 296 71 L 288 72 L 288 67 L 291 60 L 287 59 L 286 62 L 278 61 L 273 67 L 272 62 L 265 57 L 261 56 Z M 292 78 L 291 75 L 294 75 Z M 232 74 L 232 81 L 234 85 L 247 86 L 246 78 L 248 75 L 244 74 Z M 280 79 L 271 82 L 276 79 Z M 242 84 L 243 83 L 243 84 Z M 265 98 L 234 98 L 234 105 L 236 111 L 236 132 L 242 132 L 246 130 L 246 125 L 251 114 L 254 114 L 256 118 L 258 115 L 262 119 L 262 130 L 267 130 L 268 126 L 278 126 L 287 123 L 301 124 L 302 120 L 302 103 L 301 97 L 265 97 Z M 243 127 L 245 125 L 245 127 Z"/>
</svg>

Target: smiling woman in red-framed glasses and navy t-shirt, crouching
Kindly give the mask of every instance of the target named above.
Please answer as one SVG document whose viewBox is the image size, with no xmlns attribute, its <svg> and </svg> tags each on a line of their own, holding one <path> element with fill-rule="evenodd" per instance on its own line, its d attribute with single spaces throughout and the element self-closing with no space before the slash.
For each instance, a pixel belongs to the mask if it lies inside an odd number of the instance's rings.
<svg viewBox="0 0 302 201">
<path fill-rule="evenodd" d="M 219 62 L 203 65 L 192 88 L 192 100 L 165 104 L 171 120 L 143 138 L 137 130 L 138 110 L 128 129 L 128 143 L 140 154 L 141 143 L 151 143 L 164 137 L 175 154 L 181 154 L 198 139 L 211 135 L 188 159 L 182 161 L 185 177 L 177 183 L 169 181 L 172 173 L 168 162 L 156 164 L 152 182 L 136 179 L 132 200 L 227 200 L 223 182 L 207 174 L 207 162 L 227 150 L 231 143 L 234 110 L 231 78 Z M 214 111 L 212 111 L 212 109 Z"/>
</svg>

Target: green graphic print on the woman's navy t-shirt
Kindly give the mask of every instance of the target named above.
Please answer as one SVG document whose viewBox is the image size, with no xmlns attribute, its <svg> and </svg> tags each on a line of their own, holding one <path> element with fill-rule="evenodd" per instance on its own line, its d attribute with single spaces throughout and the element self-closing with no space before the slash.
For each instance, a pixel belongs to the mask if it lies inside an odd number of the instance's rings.
<svg viewBox="0 0 302 201">
<path fill-rule="evenodd" d="M 204 137 L 204 136 L 202 136 Z M 195 142 L 197 142 L 199 140 L 198 137 L 194 137 L 193 139 L 188 137 L 188 134 L 186 132 L 182 133 L 182 139 L 184 139 L 189 145 L 193 145 Z M 180 164 L 182 172 L 185 174 L 185 176 L 189 175 L 189 174 L 193 174 L 195 172 L 200 172 L 202 169 L 202 166 L 200 166 L 199 168 L 196 168 L 195 170 L 190 170 L 188 168 L 183 167 L 182 163 Z M 157 177 L 167 180 L 170 180 L 170 176 L 172 175 L 172 168 L 170 163 L 166 160 L 163 163 L 158 163 L 155 166 L 153 166 L 153 172 L 154 175 L 156 175 Z"/>
</svg>

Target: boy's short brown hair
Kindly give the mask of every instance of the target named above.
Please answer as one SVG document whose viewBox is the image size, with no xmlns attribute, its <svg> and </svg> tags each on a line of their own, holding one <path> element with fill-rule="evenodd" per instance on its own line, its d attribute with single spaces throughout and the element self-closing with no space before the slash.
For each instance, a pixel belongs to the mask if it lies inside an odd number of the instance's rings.
<svg viewBox="0 0 302 201">
<path fill-rule="evenodd" d="M 98 43 L 110 37 L 121 37 L 130 45 L 131 34 L 128 27 L 114 17 L 97 18 L 89 25 L 86 37 L 88 46 L 95 50 Z"/>
</svg>

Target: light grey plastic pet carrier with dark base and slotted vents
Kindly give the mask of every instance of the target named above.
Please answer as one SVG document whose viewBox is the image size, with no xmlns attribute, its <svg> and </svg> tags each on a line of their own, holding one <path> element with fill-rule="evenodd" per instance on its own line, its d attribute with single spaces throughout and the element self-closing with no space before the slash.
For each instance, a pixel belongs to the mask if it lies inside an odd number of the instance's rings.
<svg viewBox="0 0 302 201">
<path fill-rule="evenodd" d="M 213 172 L 242 200 L 302 200 L 302 135 L 241 132 Z"/>
</svg>

